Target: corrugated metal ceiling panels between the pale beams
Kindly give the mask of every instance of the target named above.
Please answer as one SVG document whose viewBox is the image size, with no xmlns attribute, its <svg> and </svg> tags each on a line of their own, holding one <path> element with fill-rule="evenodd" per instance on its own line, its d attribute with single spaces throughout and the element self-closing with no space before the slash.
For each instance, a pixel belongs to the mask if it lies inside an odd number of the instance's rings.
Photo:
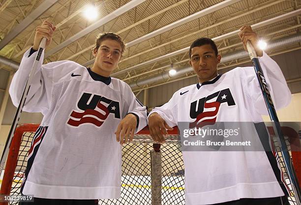
<svg viewBox="0 0 301 205">
<path fill-rule="evenodd" d="M 108 15 L 129 1 L 130 0 L 95 0 L 95 5 L 99 6 L 98 19 Z M 24 12 L 24 14 L 27 16 L 42 2 L 42 0 L 12 1 L 0 13 L 1 39 L 4 38 L 5 35 L 7 35 L 8 32 L 18 23 L 22 22 L 22 20 L 25 18 L 22 12 Z M 22 58 L 20 52 L 32 44 L 35 27 L 40 25 L 44 19 L 48 19 L 54 22 L 54 24 L 59 24 L 73 13 L 82 9 L 89 2 L 90 0 L 59 0 L 38 19 L 35 19 L 30 26 L 26 28 L 26 30 L 17 35 L 16 38 L 14 38 L 9 44 L 1 49 L 0 55 L 16 62 L 20 62 Z M 119 33 L 119 31 L 123 30 L 123 32 L 120 33 L 120 36 L 125 39 L 125 42 L 131 42 L 138 37 L 156 31 L 157 29 L 181 20 L 182 18 L 201 11 L 202 9 L 209 8 L 219 2 L 222 2 L 222 0 L 147 0 L 134 9 L 129 10 L 123 15 L 120 15 L 114 20 L 106 23 L 104 26 L 101 26 L 95 31 L 91 31 L 90 34 L 81 37 L 76 42 L 73 42 L 61 49 L 59 52 L 50 56 L 47 59 L 47 62 L 68 59 L 71 56 L 74 56 L 76 53 L 91 47 L 94 44 L 95 36 L 100 32 Z M 0 3 L 3 2 L 0 1 Z M 140 23 L 131 29 L 126 29 L 134 23 L 160 12 L 162 9 L 173 6 L 176 3 L 179 3 L 179 5 L 155 15 L 151 19 L 145 20 L 143 23 Z M 124 53 L 124 60 L 120 62 L 119 69 L 116 71 L 138 65 L 145 61 L 187 47 L 194 39 L 198 37 L 208 36 L 213 38 L 222 34 L 227 34 L 239 29 L 242 25 L 259 23 L 299 8 L 301 8 L 301 0 L 241 0 L 230 6 L 219 9 L 213 13 L 190 21 L 179 27 L 173 28 L 170 31 L 156 35 L 137 45 L 127 48 L 126 52 Z M 254 9 L 257 10 L 255 12 L 250 12 Z M 233 18 L 233 20 L 229 20 L 231 18 Z M 56 47 L 61 42 L 87 28 L 92 23 L 93 22 L 86 20 L 82 13 L 79 12 L 78 15 L 69 19 L 65 24 L 60 26 L 59 30 L 55 32 L 53 43 L 48 49 Z M 265 26 L 264 28 L 256 29 L 256 31 L 259 35 L 263 35 L 263 37 L 269 40 L 271 38 L 279 38 L 284 35 L 291 35 L 300 32 L 300 27 L 298 25 L 300 25 L 300 15 L 273 23 L 269 26 Z M 297 27 L 289 29 L 293 26 Z M 278 32 L 281 30 L 285 31 Z M 242 46 L 239 44 L 239 42 L 240 39 L 238 36 L 233 36 L 225 39 L 223 42 L 217 42 L 217 44 L 219 45 L 220 49 L 229 47 L 227 49 L 223 49 L 221 52 L 222 54 L 226 54 L 235 49 L 241 49 Z M 229 46 L 231 44 L 238 45 L 231 47 Z M 156 49 L 152 49 L 153 47 L 156 47 Z M 285 48 L 281 49 L 283 50 Z M 133 55 L 136 57 L 131 57 Z M 92 58 L 93 56 L 91 55 L 91 51 L 87 49 L 86 52 L 73 57 L 72 60 L 79 64 L 85 64 Z M 156 64 L 147 65 L 143 68 L 136 68 L 134 71 L 119 75 L 118 77 L 120 79 L 125 79 L 129 76 L 135 76 L 138 74 L 139 78 L 141 78 L 142 75 L 140 73 L 143 73 L 145 70 L 155 69 L 153 73 L 149 73 L 148 76 L 146 76 L 150 77 L 158 72 L 158 68 L 162 66 L 166 67 L 172 63 L 176 64 L 178 61 L 181 61 L 181 59 L 187 59 L 187 55 L 184 56 L 183 53 L 170 59 L 157 62 Z M 181 65 L 185 65 L 185 63 L 182 63 Z M 3 66 L 3 68 L 4 67 L 5 66 Z M 134 79 L 138 79 L 138 77 L 133 77 L 130 80 L 127 80 L 127 82 L 130 83 Z"/>
</svg>

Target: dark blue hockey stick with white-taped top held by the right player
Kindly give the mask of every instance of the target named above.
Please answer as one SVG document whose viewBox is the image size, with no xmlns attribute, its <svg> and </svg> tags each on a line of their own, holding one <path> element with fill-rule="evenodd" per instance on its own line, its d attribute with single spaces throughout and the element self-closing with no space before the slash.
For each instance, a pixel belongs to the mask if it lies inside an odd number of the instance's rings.
<svg viewBox="0 0 301 205">
<path fill-rule="evenodd" d="M 258 61 L 258 58 L 256 55 L 256 51 L 250 41 L 247 41 L 246 47 L 247 47 L 249 56 L 252 60 L 253 67 L 255 69 L 256 76 L 257 76 L 257 79 L 260 84 L 261 92 L 265 99 L 265 102 L 266 102 L 266 105 L 267 105 L 267 108 L 269 111 L 269 115 L 270 115 L 270 118 L 272 121 L 275 136 L 280 141 L 281 154 L 282 154 L 282 157 L 284 160 L 284 164 L 285 164 L 289 179 L 291 181 L 292 188 L 295 193 L 295 199 L 296 199 L 297 205 L 301 205 L 301 203 L 300 203 L 301 202 L 300 201 L 301 192 L 300 192 L 300 187 L 299 187 L 299 183 L 298 183 L 298 178 L 296 176 L 296 173 L 295 173 L 292 161 L 291 161 L 291 157 L 289 155 L 289 152 L 288 152 L 288 149 L 287 149 L 287 146 L 285 143 L 285 139 L 284 139 L 282 131 L 281 131 L 281 126 L 280 126 L 280 123 L 279 123 L 279 120 L 277 117 L 277 113 L 276 113 L 274 104 L 271 99 L 268 85 L 266 83 L 263 71 L 260 67 L 260 64 L 259 64 L 259 61 Z"/>
</svg>

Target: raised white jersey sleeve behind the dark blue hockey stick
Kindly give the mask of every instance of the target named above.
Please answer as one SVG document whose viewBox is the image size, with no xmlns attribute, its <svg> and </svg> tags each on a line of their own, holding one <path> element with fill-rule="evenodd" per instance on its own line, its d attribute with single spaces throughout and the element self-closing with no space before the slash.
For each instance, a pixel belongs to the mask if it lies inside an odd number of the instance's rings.
<svg viewBox="0 0 301 205">
<path fill-rule="evenodd" d="M 281 69 L 265 52 L 263 57 L 259 58 L 259 63 L 265 76 L 275 109 L 287 106 L 291 102 L 292 95 Z M 246 73 L 246 79 L 244 81 L 246 82 L 244 84 L 246 86 L 245 91 L 251 96 L 256 111 L 259 114 L 268 115 L 268 109 L 254 68 L 246 67 L 243 69 L 245 69 L 244 71 Z"/>
</svg>

